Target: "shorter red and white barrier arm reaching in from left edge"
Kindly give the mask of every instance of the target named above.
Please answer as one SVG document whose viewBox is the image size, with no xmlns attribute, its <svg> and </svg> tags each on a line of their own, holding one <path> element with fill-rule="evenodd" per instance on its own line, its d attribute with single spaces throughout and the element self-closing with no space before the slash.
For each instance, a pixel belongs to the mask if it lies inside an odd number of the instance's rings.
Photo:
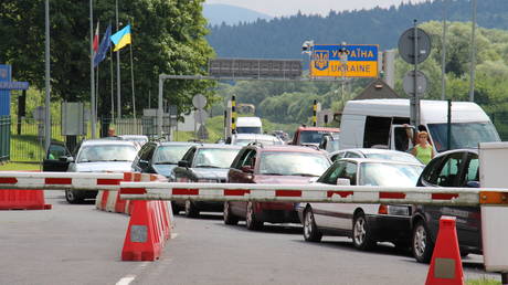
<svg viewBox="0 0 508 285">
<path fill-rule="evenodd" d="M 118 190 L 127 173 L 105 172 L 0 172 L 0 189 Z"/>
</svg>

